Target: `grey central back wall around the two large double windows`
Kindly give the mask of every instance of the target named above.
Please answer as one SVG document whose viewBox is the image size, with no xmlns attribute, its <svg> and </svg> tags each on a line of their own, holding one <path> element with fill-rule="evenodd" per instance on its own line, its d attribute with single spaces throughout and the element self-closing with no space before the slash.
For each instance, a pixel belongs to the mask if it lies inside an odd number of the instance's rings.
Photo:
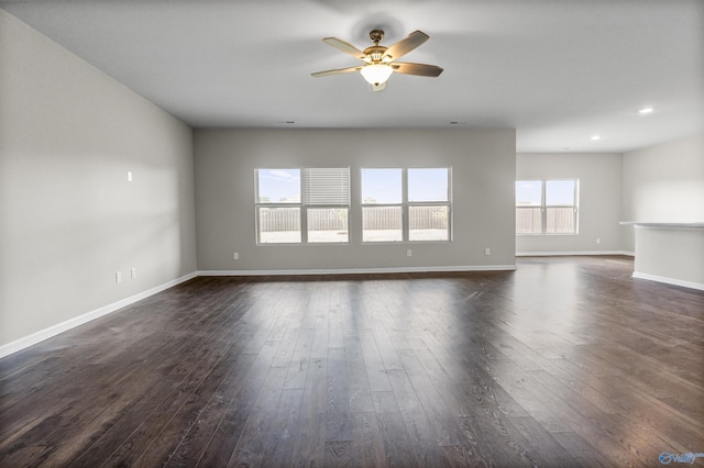
<svg viewBox="0 0 704 468">
<path fill-rule="evenodd" d="M 198 130 L 194 142 L 200 270 L 515 266 L 514 130 Z M 452 167 L 454 241 L 362 245 L 360 168 L 435 165 Z M 257 246 L 255 168 L 305 166 L 351 168 L 350 244 Z"/>
</svg>

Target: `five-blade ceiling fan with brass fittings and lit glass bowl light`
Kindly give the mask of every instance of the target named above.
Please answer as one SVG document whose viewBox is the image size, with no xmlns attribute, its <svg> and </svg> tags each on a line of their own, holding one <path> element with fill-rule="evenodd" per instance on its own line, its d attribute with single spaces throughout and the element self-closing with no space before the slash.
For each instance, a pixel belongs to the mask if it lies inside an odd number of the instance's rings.
<svg viewBox="0 0 704 468">
<path fill-rule="evenodd" d="M 414 31 L 408 34 L 406 38 L 400 40 L 391 47 L 380 45 L 384 38 L 384 31 L 373 30 L 370 33 L 370 38 L 374 45 L 366 47 L 364 51 L 360 51 L 350 43 L 346 43 L 337 37 L 326 37 L 322 40 L 326 44 L 333 46 L 334 48 L 344 52 L 364 63 L 356 67 L 338 68 L 333 70 L 317 71 L 310 74 L 314 77 L 327 77 L 330 75 L 349 74 L 352 71 L 360 71 L 362 77 L 372 86 L 373 91 L 383 91 L 386 89 L 386 80 L 393 73 L 404 75 L 417 75 L 421 77 L 437 77 L 442 73 L 442 68 L 436 65 L 427 64 L 410 64 L 407 62 L 396 62 L 410 51 L 415 49 L 430 36 L 421 31 Z"/>
</svg>

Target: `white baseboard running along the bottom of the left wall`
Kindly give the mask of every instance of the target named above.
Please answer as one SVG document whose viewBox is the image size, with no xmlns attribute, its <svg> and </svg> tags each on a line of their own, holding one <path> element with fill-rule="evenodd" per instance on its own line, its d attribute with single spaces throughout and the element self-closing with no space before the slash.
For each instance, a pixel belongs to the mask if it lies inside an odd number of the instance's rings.
<svg viewBox="0 0 704 468">
<path fill-rule="evenodd" d="M 56 336 L 59 333 L 64 333 L 70 328 L 75 328 L 76 326 L 82 325 L 84 323 L 88 323 L 91 320 L 96 320 L 100 316 L 112 313 L 127 305 L 133 304 L 134 302 L 141 301 L 142 299 L 146 299 L 150 296 L 156 294 L 157 292 L 162 292 L 168 288 L 173 288 L 174 286 L 180 285 L 184 281 L 188 281 L 189 279 L 195 278 L 196 276 L 198 276 L 197 272 L 183 276 L 180 278 L 174 279 L 172 281 L 167 281 L 163 285 L 160 285 L 146 291 L 140 292 L 139 294 L 131 296 L 118 302 L 113 302 L 100 309 L 96 309 L 82 315 L 69 319 L 66 322 L 62 322 L 56 325 L 52 325 L 48 328 L 44 328 L 36 333 L 32 333 L 31 335 L 24 336 L 20 339 L 15 339 L 14 342 L 10 342 L 7 345 L 0 346 L 0 358 L 4 356 L 9 356 L 13 353 L 16 353 L 32 345 L 35 345 L 40 342 L 43 342 L 44 339 L 51 338 L 52 336 Z"/>
</svg>

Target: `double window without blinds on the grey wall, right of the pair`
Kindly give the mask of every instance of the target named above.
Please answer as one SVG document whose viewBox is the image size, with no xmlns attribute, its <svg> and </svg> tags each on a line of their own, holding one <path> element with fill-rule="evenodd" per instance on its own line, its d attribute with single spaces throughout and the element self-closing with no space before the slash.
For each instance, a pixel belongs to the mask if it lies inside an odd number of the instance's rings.
<svg viewBox="0 0 704 468">
<path fill-rule="evenodd" d="M 362 242 L 449 241 L 450 169 L 362 169 Z"/>
</svg>

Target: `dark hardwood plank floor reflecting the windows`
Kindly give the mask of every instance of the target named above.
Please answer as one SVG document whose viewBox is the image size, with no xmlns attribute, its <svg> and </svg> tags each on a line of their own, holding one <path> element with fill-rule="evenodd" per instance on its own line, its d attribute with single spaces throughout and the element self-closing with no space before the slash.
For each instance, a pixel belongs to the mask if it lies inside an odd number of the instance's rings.
<svg viewBox="0 0 704 468">
<path fill-rule="evenodd" d="M 660 466 L 704 292 L 628 257 L 197 278 L 0 360 L 0 466 Z M 704 465 L 697 458 L 694 465 Z"/>
</svg>

